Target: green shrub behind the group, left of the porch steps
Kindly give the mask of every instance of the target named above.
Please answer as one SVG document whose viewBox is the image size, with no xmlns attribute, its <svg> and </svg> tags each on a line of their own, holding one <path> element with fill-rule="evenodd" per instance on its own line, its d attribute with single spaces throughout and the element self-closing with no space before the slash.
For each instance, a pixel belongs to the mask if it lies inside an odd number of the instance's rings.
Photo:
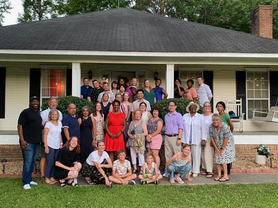
<svg viewBox="0 0 278 208">
<path fill-rule="evenodd" d="M 76 116 L 78 118 L 81 117 L 81 108 L 83 108 L 85 105 L 89 106 L 91 110 L 93 109 L 94 104 L 88 100 L 82 99 L 80 97 L 75 96 L 65 96 L 65 97 L 58 97 L 58 106 L 57 110 L 61 111 L 62 115 L 65 116 L 67 114 L 67 108 L 69 104 L 75 104 L 76 105 Z M 44 102 L 41 105 L 41 110 L 44 111 L 48 108 L 48 103 Z"/>
</svg>

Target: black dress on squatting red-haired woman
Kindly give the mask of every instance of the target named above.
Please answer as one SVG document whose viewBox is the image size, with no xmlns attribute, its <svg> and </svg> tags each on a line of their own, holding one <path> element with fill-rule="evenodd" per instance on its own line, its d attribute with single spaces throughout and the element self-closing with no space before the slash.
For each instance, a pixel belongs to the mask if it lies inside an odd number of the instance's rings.
<svg viewBox="0 0 278 208">
<path fill-rule="evenodd" d="M 56 161 L 59 161 L 61 164 L 67 167 L 74 167 L 74 162 L 79 161 L 79 154 L 75 154 L 74 150 L 70 151 L 66 147 L 63 147 L 59 150 Z M 54 176 L 57 179 L 63 179 L 68 177 L 69 170 L 55 166 Z"/>
</svg>

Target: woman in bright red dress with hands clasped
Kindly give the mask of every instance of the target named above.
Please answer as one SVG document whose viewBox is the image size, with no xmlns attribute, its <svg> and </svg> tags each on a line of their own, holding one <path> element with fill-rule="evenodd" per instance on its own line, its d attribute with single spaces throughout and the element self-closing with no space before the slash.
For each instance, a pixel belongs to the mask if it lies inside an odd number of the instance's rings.
<svg viewBox="0 0 278 208">
<path fill-rule="evenodd" d="M 114 161 L 114 154 L 120 149 L 125 149 L 123 132 L 126 128 L 126 120 L 124 113 L 119 111 L 120 101 L 114 100 L 112 103 L 114 111 L 108 113 L 105 129 L 105 150 L 109 152 L 109 157 Z"/>
</svg>

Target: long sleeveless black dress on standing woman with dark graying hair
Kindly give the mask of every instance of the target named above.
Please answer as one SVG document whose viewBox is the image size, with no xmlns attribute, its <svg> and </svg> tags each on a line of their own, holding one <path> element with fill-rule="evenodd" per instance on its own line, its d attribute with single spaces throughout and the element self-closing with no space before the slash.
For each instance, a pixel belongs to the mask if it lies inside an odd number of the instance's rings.
<svg viewBox="0 0 278 208">
<path fill-rule="evenodd" d="M 92 134 L 93 122 L 89 116 L 87 119 L 81 118 L 80 124 L 80 162 L 83 164 L 87 157 L 94 151 L 93 134 Z"/>
</svg>

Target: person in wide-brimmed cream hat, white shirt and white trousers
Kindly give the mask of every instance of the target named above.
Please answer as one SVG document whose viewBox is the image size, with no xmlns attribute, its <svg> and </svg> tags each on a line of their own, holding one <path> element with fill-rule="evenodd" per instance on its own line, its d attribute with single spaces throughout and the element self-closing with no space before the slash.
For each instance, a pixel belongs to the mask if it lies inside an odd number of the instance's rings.
<svg viewBox="0 0 278 208">
<path fill-rule="evenodd" d="M 183 115 L 184 131 L 182 133 L 181 141 L 183 144 L 191 145 L 192 154 L 192 177 L 197 177 L 200 173 L 201 162 L 201 146 L 205 145 L 207 140 L 206 124 L 204 117 L 197 113 L 200 106 L 197 103 L 190 102 L 187 107 L 186 113 Z"/>
</svg>

